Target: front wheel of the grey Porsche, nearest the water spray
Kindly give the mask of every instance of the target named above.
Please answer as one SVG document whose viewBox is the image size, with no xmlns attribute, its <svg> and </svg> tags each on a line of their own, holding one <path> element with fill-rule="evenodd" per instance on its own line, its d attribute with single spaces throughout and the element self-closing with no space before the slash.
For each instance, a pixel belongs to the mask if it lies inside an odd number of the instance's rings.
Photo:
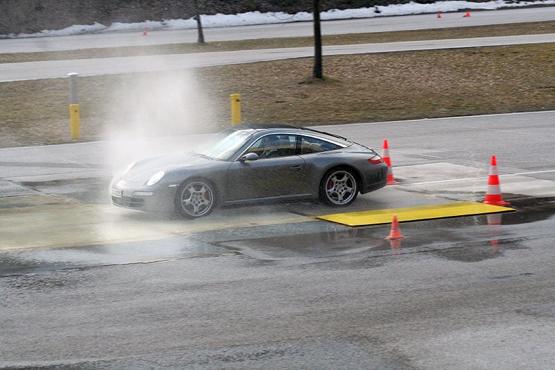
<svg viewBox="0 0 555 370">
<path fill-rule="evenodd" d="M 207 180 L 187 180 L 176 194 L 176 208 L 180 215 L 188 219 L 210 215 L 217 203 L 216 187 Z"/>
</svg>

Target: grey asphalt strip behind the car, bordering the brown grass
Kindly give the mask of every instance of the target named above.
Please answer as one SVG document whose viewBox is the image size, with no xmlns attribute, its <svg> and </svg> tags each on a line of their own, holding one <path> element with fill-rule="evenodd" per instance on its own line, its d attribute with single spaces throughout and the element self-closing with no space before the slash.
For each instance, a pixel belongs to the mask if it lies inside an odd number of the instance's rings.
<svg viewBox="0 0 555 370">
<path fill-rule="evenodd" d="M 378 152 L 382 141 L 388 139 L 393 166 L 400 177 L 405 177 L 401 172 L 407 167 L 441 162 L 475 167 L 477 174 L 487 176 L 489 158 L 497 155 L 499 174 L 530 172 L 531 178 L 555 180 L 554 121 L 555 112 L 549 111 L 315 128 L 355 138 Z M 113 140 L 0 149 L 0 179 L 21 183 L 110 177 L 137 157 L 188 150 L 202 142 L 203 137 L 205 135 L 156 138 L 135 135 L 133 142 Z M 456 173 L 452 176 L 468 177 Z M 407 177 L 404 185 L 414 182 Z M 5 189 L 4 196 L 17 195 Z M 483 191 L 481 187 L 470 190 Z"/>
</svg>

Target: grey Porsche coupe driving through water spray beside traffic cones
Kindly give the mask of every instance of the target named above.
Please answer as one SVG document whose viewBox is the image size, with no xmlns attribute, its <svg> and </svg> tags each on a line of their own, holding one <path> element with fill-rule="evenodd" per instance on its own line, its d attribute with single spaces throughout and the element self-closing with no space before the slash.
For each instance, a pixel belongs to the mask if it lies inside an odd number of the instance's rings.
<svg viewBox="0 0 555 370">
<path fill-rule="evenodd" d="M 198 151 L 131 165 L 110 191 L 114 205 L 196 218 L 216 205 L 319 199 L 345 206 L 386 182 L 386 163 L 364 145 L 309 128 L 241 124 Z"/>
</svg>

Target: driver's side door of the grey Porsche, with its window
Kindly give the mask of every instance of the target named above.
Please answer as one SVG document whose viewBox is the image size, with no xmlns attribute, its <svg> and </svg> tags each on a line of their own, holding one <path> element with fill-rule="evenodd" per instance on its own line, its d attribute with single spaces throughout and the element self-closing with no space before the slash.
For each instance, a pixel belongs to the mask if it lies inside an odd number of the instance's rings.
<svg viewBox="0 0 555 370">
<path fill-rule="evenodd" d="M 257 160 L 236 160 L 228 169 L 228 200 L 271 198 L 293 194 L 305 171 L 305 160 L 296 155 L 296 135 L 266 135 L 246 153 Z"/>
</svg>

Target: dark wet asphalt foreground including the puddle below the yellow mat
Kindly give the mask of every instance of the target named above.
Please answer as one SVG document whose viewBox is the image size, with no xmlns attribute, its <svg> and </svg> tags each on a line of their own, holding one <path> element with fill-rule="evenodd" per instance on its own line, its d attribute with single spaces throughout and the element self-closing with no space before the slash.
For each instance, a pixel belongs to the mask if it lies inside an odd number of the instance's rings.
<svg viewBox="0 0 555 370">
<path fill-rule="evenodd" d="M 308 222 L 196 235 L 232 253 L 3 276 L 0 368 L 551 369 L 552 202 L 404 223 L 401 245 Z"/>
</svg>

